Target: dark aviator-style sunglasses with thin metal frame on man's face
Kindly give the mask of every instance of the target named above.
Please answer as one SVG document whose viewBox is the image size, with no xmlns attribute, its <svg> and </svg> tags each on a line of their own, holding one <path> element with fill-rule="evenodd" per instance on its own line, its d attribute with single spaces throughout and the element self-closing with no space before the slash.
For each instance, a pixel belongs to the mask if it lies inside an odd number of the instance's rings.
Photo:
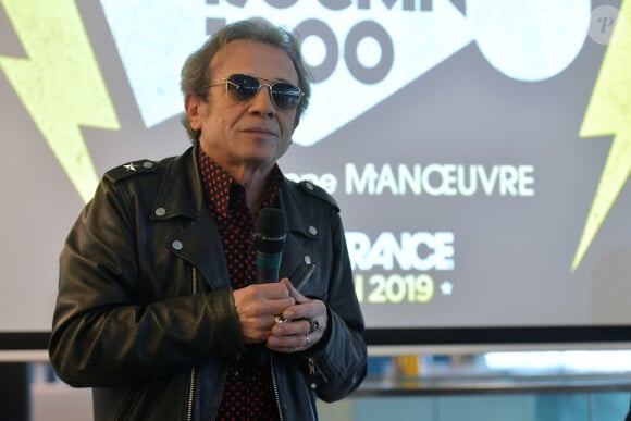
<svg viewBox="0 0 631 421">
<path fill-rule="evenodd" d="M 235 101 L 247 101 L 259 92 L 261 86 L 267 86 L 270 89 L 272 103 L 279 110 L 295 110 L 305 95 L 299 87 L 286 82 L 261 79 L 250 75 L 234 74 L 222 77 L 221 81 L 225 82 L 227 97 Z M 223 83 L 209 86 L 222 85 Z"/>
</svg>

